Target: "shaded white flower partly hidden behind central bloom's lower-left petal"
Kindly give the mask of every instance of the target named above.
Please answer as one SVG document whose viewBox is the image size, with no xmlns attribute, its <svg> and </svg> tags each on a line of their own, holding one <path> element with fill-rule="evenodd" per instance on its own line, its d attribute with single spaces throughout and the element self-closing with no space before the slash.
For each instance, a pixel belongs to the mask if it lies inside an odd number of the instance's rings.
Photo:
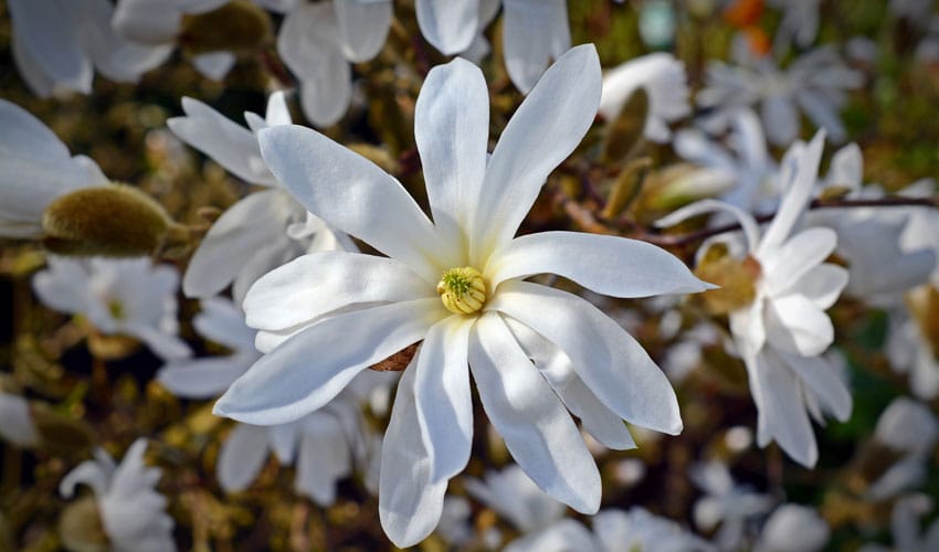
<svg viewBox="0 0 939 552">
<path fill-rule="evenodd" d="M 203 337 L 231 349 L 228 357 L 176 360 L 160 369 L 159 382 L 177 396 L 212 399 L 261 357 L 254 335 L 238 307 L 224 298 L 202 301 L 193 326 Z M 277 426 L 239 424 L 229 434 L 215 466 L 219 485 L 228 492 L 247 488 L 273 452 L 282 465 L 296 459 L 296 488 L 320 506 L 336 500 L 336 481 L 351 473 L 354 460 L 366 461 L 370 432 L 360 404 L 386 374 L 361 374 L 350 389 L 305 417 Z M 384 380 L 384 381 L 383 381 Z"/>
</svg>

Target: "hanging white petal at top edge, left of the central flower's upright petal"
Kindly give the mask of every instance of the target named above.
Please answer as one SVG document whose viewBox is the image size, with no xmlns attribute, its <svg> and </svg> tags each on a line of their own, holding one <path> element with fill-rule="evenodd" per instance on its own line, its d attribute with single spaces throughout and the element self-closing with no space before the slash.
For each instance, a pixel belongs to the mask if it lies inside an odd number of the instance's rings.
<svg viewBox="0 0 939 552">
<path fill-rule="evenodd" d="M 342 52 L 354 63 L 381 52 L 391 29 L 391 0 L 334 0 Z"/>
</svg>

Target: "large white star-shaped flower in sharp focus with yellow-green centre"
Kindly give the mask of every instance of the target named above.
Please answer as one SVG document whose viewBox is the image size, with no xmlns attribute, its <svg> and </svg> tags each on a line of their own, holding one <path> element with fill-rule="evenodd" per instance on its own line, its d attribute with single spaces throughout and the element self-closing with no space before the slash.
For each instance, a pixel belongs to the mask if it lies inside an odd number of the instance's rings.
<svg viewBox="0 0 939 552">
<path fill-rule="evenodd" d="M 503 132 L 488 163 L 488 94 L 465 60 L 432 70 L 415 137 L 432 223 L 392 177 L 302 127 L 261 132 L 277 179 L 310 212 L 388 257 L 324 252 L 263 276 L 245 297 L 271 351 L 215 404 L 279 424 L 329 402 L 357 373 L 423 340 L 398 386 L 382 447 L 380 513 L 410 545 L 441 513 L 446 480 L 470 458 L 470 364 L 509 452 L 545 491 L 595 511 L 600 477 L 568 414 L 599 440 L 633 446 L 620 421 L 676 434 L 678 404 L 642 347 L 585 300 L 524 282 L 555 273 L 616 297 L 700 291 L 676 257 L 643 242 L 571 232 L 513 240 L 553 168 L 590 128 L 600 99 L 591 45 L 565 54 Z M 532 364 L 532 360 L 535 363 Z"/>
</svg>

